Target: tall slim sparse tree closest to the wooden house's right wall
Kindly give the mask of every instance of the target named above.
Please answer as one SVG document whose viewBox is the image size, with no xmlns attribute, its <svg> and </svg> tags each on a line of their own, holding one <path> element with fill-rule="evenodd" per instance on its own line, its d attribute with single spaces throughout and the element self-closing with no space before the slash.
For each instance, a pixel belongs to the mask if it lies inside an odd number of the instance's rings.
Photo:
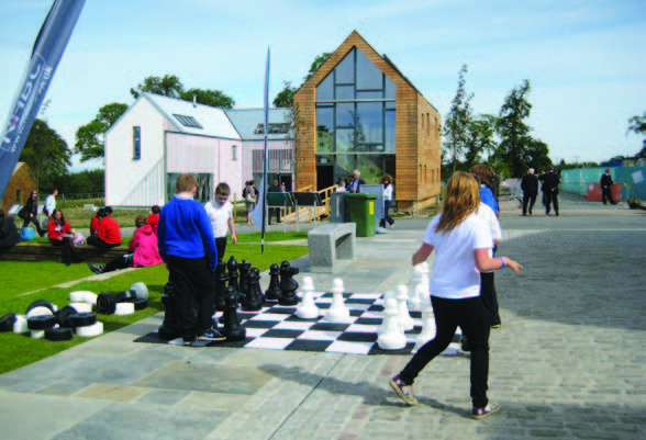
<svg viewBox="0 0 646 440">
<path fill-rule="evenodd" d="M 469 124 L 471 123 L 471 99 L 474 93 L 467 93 L 465 75 L 468 72 L 467 65 L 463 65 L 458 74 L 458 89 L 450 104 L 450 111 L 444 123 L 444 145 L 446 155 L 450 153 L 453 160 L 453 172 L 459 158 L 467 149 L 469 138 Z"/>
</svg>

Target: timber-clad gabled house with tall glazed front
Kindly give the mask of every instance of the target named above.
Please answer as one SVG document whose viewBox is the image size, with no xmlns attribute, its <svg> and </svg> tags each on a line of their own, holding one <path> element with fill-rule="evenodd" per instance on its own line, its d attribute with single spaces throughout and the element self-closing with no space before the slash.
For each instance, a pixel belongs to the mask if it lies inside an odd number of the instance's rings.
<svg viewBox="0 0 646 440">
<path fill-rule="evenodd" d="M 439 194 L 441 115 L 356 31 L 294 95 L 296 187 L 331 187 L 353 170 L 394 181 L 400 210 Z"/>
</svg>

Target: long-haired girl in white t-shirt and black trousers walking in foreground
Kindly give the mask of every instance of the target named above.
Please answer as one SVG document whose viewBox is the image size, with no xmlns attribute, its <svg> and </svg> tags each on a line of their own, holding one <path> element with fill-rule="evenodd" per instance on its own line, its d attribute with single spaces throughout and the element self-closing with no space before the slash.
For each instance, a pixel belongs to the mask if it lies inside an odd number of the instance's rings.
<svg viewBox="0 0 646 440">
<path fill-rule="evenodd" d="M 480 205 L 478 182 L 466 172 L 456 172 L 446 187 L 442 214 L 426 230 L 424 242 L 413 255 L 413 264 L 425 261 L 435 250 L 430 290 L 435 338 L 413 356 L 390 386 L 409 405 L 416 405 L 413 382 L 417 374 L 450 343 L 459 326 L 471 345 L 471 416 L 482 418 L 500 407 L 489 403 L 489 326 L 480 301 L 480 272 L 523 268 L 506 257 L 492 258 L 492 237 L 488 225 L 476 214 Z"/>
</svg>

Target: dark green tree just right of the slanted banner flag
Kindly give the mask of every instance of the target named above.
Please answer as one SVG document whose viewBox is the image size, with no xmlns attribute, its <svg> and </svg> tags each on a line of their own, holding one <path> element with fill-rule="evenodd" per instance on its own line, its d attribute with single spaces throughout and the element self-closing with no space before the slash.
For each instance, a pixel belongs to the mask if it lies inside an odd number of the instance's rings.
<svg viewBox="0 0 646 440">
<path fill-rule="evenodd" d="M 46 122 L 35 120 L 26 138 L 20 161 L 31 168 L 36 188 L 49 191 L 58 176 L 67 174 L 70 165 L 65 140 Z"/>
</svg>

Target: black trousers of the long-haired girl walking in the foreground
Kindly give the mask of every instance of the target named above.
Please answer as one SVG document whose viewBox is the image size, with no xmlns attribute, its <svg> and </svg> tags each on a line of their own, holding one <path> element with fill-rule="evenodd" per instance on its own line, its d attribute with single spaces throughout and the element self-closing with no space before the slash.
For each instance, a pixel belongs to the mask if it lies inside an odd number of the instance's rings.
<svg viewBox="0 0 646 440">
<path fill-rule="evenodd" d="M 431 296 L 435 326 L 435 338 L 426 342 L 399 374 L 400 379 L 412 385 L 415 377 L 428 362 L 442 353 L 450 343 L 459 326 L 471 345 L 471 399 L 474 406 L 483 408 L 489 380 L 489 326 L 487 312 L 480 296 L 465 300 L 446 300 Z"/>
</svg>

